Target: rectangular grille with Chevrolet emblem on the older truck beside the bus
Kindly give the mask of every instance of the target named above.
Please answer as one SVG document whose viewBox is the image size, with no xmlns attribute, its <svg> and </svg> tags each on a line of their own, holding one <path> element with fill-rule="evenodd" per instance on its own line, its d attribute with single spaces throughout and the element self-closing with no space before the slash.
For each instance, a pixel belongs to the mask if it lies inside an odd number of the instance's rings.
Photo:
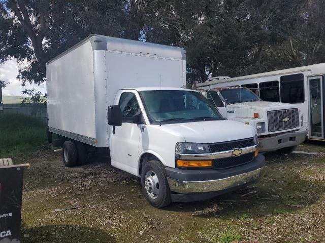
<svg viewBox="0 0 325 243">
<path fill-rule="evenodd" d="M 268 123 L 269 132 L 297 128 L 300 126 L 298 108 L 268 111 Z"/>
</svg>

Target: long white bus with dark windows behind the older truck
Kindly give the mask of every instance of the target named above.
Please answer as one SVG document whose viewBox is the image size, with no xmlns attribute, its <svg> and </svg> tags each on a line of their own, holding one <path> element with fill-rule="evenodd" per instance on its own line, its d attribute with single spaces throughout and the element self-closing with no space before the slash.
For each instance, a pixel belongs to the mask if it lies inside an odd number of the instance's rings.
<svg viewBox="0 0 325 243">
<path fill-rule="evenodd" d="M 324 140 L 325 63 L 234 78 L 211 77 L 198 89 L 240 86 L 264 101 L 297 104 L 304 115 L 308 139 Z"/>
</svg>

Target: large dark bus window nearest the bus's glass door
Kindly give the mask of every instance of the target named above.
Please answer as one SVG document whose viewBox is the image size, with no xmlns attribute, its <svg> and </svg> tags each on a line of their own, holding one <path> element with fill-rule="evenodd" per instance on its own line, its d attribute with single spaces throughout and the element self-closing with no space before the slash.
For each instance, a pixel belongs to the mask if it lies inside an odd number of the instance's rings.
<svg viewBox="0 0 325 243">
<path fill-rule="evenodd" d="M 280 77 L 281 102 L 304 103 L 304 74 L 292 74 Z"/>
</svg>

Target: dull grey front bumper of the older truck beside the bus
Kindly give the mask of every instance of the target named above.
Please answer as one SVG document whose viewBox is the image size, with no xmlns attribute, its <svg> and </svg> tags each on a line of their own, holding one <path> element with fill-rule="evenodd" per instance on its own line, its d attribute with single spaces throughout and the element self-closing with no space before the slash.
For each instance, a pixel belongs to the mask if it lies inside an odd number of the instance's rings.
<svg viewBox="0 0 325 243">
<path fill-rule="evenodd" d="M 288 132 L 277 136 L 258 138 L 259 151 L 270 152 L 281 148 L 297 146 L 305 141 L 308 129 L 305 131 Z"/>
</svg>

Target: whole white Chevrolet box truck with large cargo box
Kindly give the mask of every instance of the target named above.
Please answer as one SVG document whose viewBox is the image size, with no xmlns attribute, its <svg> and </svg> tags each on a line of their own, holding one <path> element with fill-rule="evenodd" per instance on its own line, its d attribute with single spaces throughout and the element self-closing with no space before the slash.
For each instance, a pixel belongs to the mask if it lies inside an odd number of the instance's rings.
<svg viewBox="0 0 325 243">
<path fill-rule="evenodd" d="M 105 150 L 113 167 L 141 177 L 158 208 L 256 182 L 265 158 L 255 130 L 182 89 L 185 66 L 182 48 L 102 35 L 49 61 L 49 134 L 59 136 L 64 164 Z"/>
</svg>

